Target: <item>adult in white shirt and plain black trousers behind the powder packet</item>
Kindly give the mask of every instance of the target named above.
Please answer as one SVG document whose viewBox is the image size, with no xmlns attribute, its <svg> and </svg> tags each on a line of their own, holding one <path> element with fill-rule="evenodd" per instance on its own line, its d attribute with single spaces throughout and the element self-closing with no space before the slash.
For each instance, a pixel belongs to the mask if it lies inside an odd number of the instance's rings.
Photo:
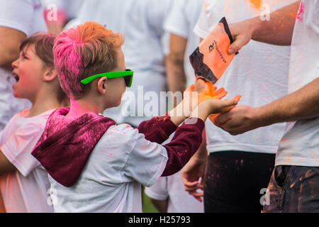
<svg viewBox="0 0 319 227">
<path fill-rule="evenodd" d="M 289 4 L 289 1 L 262 2 L 268 4 L 271 11 Z M 224 16 L 229 24 L 237 23 L 260 16 L 262 9 L 262 4 L 252 4 L 252 1 L 206 0 L 194 31 L 203 39 Z M 289 55 L 289 47 L 252 40 L 235 56 L 216 86 L 225 87 L 230 96 L 241 94 L 242 105 L 258 107 L 279 99 L 287 94 Z M 186 188 L 197 199 L 203 196 L 205 212 L 260 212 L 263 196 L 260 192 L 267 188 L 283 134 L 284 123 L 233 136 L 206 121 L 209 156 L 204 152 L 203 160 L 197 159 L 201 167 L 183 170 Z M 188 187 L 188 179 L 198 178 L 198 172 L 203 173 L 205 166 L 205 176 L 201 175 L 204 192 L 196 193 L 194 187 L 202 187 L 202 184 Z"/>
</svg>

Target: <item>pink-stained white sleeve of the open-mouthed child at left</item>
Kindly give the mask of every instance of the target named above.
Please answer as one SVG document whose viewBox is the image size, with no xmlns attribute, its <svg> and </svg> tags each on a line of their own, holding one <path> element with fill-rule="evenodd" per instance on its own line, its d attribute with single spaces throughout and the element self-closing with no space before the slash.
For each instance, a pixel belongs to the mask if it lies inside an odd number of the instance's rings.
<svg viewBox="0 0 319 227">
<path fill-rule="evenodd" d="M 20 128 L 1 145 L 1 151 L 6 158 L 27 177 L 40 163 L 32 155 L 35 143 L 43 133 L 43 128 L 35 125 L 28 125 Z"/>
</svg>

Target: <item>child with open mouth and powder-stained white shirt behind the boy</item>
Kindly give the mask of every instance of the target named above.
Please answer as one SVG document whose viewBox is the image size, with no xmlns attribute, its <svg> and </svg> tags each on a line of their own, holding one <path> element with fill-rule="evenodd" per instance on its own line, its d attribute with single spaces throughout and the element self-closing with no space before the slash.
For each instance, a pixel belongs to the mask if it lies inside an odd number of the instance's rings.
<svg viewBox="0 0 319 227">
<path fill-rule="evenodd" d="M 53 63 L 54 35 L 35 34 L 23 41 L 12 63 L 13 95 L 33 104 L 11 118 L 0 133 L 0 191 L 6 212 L 52 212 L 47 172 L 32 155 L 47 118 L 61 106 L 60 88 Z M 30 86 L 32 84 L 32 86 Z"/>
</svg>

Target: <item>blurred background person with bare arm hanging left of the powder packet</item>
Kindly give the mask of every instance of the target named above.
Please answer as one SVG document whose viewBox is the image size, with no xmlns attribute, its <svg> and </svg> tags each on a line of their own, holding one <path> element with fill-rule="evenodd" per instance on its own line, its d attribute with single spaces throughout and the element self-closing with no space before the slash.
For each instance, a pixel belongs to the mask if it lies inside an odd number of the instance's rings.
<svg viewBox="0 0 319 227">
<path fill-rule="evenodd" d="M 177 0 L 164 23 L 169 33 L 169 52 L 166 60 L 167 86 L 171 92 L 184 92 L 195 82 L 189 55 L 198 47 L 199 38 L 194 27 L 203 9 L 204 0 Z"/>
</svg>

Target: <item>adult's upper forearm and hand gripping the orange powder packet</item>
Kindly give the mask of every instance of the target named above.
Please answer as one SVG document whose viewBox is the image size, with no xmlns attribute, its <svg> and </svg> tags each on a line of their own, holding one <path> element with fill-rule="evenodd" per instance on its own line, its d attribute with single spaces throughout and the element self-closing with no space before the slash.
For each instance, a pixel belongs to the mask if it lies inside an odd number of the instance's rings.
<svg viewBox="0 0 319 227">
<path fill-rule="evenodd" d="M 273 45 L 291 45 L 293 28 L 300 1 L 270 13 L 269 21 L 262 21 L 259 16 L 230 25 L 235 42 L 228 52 L 233 54 L 249 43 L 251 39 Z"/>
</svg>

